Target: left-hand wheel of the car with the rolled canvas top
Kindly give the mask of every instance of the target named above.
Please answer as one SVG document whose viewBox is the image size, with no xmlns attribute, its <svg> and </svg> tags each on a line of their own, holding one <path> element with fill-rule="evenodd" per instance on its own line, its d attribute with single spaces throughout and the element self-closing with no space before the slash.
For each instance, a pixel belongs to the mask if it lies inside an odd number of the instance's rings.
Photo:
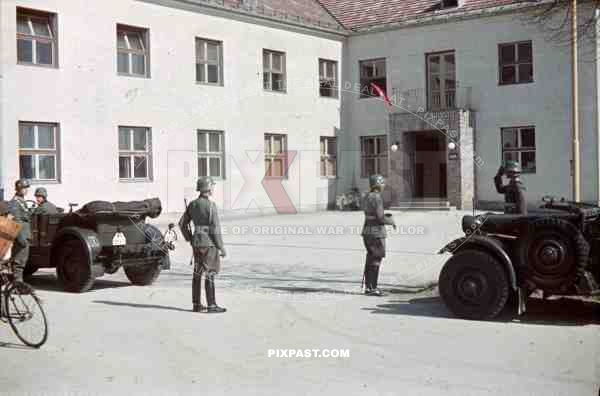
<svg viewBox="0 0 600 396">
<path fill-rule="evenodd" d="M 94 272 L 86 246 L 77 239 L 66 239 L 56 253 L 56 276 L 63 289 L 83 293 L 94 284 Z"/>
</svg>

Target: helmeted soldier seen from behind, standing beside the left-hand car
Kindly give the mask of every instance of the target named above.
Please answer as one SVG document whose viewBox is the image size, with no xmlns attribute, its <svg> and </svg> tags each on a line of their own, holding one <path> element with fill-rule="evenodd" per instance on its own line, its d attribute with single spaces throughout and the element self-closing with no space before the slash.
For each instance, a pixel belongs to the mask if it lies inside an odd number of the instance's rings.
<svg viewBox="0 0 600 396">
<path fill-rule="evenodd" d="M 192 244 L 194 252 L 194 276 L 192 280 L 192 304 L 194 312 L 221 313 L 225 308 L 217 305 L 215 299 L 215 276 L 221 269 L 221 257 L 225 248 L 221 238 L 221 226 L 217 205 L 210 200 L 214 182 L 210 177 L 198 179 L 197 199 L 190 202 L 179 220 L 179 229 L 186 241 Z M 194 224 L 192 231 L 190 223 Z M 202 277 L 206 292 L 207 306 L 202 305 Z"/>
</svg>

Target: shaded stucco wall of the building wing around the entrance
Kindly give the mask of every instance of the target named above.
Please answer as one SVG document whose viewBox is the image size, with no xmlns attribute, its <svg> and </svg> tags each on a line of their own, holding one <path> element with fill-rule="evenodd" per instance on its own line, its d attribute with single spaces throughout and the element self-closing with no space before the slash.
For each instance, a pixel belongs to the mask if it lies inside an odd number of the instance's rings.
<svg viewBox="0 0 600 396">
<path fill-rule="evenodd" d="M 498 85 L 498 44 L 521 40 L 533 42 L 534 82 Z M 580 128 L 582 133 L 582 198 L 598 201 L 598 69 L 593 43 L 580 51 Z M 421 89 L 425 92 L 425 54 L 454 50 L 456 79 L 471 87 L 476 115 L 477 154 L 484 164 L 476 168 L 479 200 L 499 201 L 492 178 L 501 162 L 500 128 L 534 125 L 536 128 L 537 172 L 523 175 L 527 199 L 537 202 L 544 194 L 571 197 L 571 96 L 570 50 L 547 40 L 538 26 L 514 15 L 470 19 L 417 28 L 397 29 L 351 36 L 344 63 L 348 86 L 359 80 L 359 61 L 386 58 L 387 89 Z M 584 53 L 587 60 L 584 61 Z M 359 150 L 359 136 L 385 134 L 385 106 L 377 99 L 358 99 L 354 92 L 344 96 L 342 128 L 349 137 L 347 150 Z M 423 106 L 413 103 L 411 110 Z M 417 104 L 417 105 L 414 105 Z M 353 174 L 360 175 L 359 154 L 346 156 L 342 181 L 349 188 Z M 359 186 L 366 188 L 367 180 Z"/>
</svg>

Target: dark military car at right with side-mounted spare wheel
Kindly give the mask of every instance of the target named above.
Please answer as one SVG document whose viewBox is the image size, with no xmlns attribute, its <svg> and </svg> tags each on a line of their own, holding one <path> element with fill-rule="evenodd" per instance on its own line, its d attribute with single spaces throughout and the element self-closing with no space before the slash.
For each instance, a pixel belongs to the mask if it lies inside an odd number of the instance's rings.
<svg viewBox="0 0 600 396">
<path fill-rule="evenodd" d="M 491 319 L 514 301 L 519 314 L 539 290 L 591 295 L 600 282 L 600 208 L 553 197 L 527 215 L 464 216 L 465 236 L 439 253 L 452 256 L 439 277 L 444 303 L 456 316 Z"/>
</svg>

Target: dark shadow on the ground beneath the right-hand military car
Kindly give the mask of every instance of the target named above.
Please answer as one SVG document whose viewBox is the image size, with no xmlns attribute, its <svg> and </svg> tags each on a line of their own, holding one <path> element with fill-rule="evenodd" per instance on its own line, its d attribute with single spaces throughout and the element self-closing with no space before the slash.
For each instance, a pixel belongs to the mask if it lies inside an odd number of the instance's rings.
<svg viewBox="0 0 600 396">
<path fill-rule="evenodd" d="M 375 308 L 363 309 L 374 314 L 455 318 L 440 297 L 392 300 Z M 527 312 L 523 316 L 519 317 L 507 308 L 495 321 L 555 326 L 600 325 L 600 303 L 575 298 L 531 298 L 527 301 Z"/>
</svg>

